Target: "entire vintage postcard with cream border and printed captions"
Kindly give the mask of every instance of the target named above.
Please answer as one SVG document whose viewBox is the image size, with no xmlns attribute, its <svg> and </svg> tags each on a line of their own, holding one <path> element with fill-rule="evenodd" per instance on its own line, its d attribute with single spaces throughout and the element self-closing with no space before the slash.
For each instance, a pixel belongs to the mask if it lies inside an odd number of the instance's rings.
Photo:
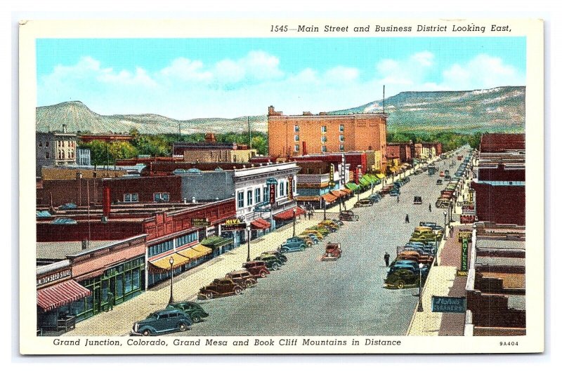
<svg viewBox="0 0 562 374">
<path fill-rule="evenodd" d="M 543 352 L 543 42 L 22 20 L 21 354 Z"/>
</svg>

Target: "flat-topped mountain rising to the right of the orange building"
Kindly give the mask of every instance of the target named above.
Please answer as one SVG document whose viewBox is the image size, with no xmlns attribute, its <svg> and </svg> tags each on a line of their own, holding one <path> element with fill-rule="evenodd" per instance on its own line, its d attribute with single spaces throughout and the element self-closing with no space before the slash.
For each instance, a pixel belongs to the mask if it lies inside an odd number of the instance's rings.
<svg viewBox="0 0 562 374">
<path fill-rule="evenodd" d="M 329 114 L 383 111 L 383 100 Z M 388 131 L 525 131 L 525 87 L 475 91 L 401 92 L 384 100 Z"/>
</svg>

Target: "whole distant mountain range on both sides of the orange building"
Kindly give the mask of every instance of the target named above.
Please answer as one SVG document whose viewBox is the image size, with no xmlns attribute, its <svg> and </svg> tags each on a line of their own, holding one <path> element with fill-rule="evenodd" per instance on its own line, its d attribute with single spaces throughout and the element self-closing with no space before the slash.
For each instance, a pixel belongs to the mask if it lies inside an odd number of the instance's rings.
<svg viewBox="0 0 562 374">
<path fill-rule="evenodd" d="M 328 114 L 382 112 L 383 100 Z M 388 131 L 525 131 L 525 87 L 509 86 L 476 91 L 401 92 L 384 100 Z M 253 131 L 267 132 L 267 116 L 234 119 L 207 118 L 179 121 L 158 114 L 115 114 L 92 112 L 79 101 L 37 107 L 37 131 L 60 130 L 83 133 L 227 133 L 244 132 L 248 120 Z"/>
</svg>

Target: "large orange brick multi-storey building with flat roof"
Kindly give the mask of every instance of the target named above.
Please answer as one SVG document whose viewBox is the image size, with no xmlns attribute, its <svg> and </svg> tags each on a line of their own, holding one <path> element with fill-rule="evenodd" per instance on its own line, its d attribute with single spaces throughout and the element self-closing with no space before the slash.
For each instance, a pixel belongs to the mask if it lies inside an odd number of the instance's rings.
<svg viewBox="0 0 562 374">
<path fill-rule="evenodd" d="M 388 114 L 284 115 L 268 110 L 269 155 L 302 156 L 348 151 L 381 151 L 386 169 L 386 119 Z M 382 165 L 381 165 L 382 166 Z"/>
</svg>

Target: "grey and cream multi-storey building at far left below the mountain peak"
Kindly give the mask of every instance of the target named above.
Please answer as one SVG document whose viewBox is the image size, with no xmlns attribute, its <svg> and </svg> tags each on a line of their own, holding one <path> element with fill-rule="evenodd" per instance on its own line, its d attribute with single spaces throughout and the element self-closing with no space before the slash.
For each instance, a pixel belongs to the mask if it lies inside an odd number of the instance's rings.
<svg viewBox="0 0 562 374">
<path fill-rule="evenodd" d="M 36 133 L 35 168 L 36 175 L 41 175 L 43 166 L 67 166 L 76 163 L 77 135 L 63 131 Z"/>
</svg>

